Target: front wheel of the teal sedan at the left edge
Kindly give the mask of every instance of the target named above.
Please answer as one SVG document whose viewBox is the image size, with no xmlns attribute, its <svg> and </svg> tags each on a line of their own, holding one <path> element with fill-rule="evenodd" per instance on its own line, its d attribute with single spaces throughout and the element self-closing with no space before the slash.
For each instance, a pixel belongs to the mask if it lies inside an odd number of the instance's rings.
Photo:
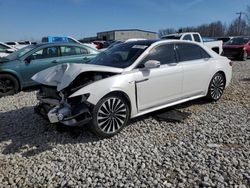
<svg viewBox="0 0 250 188">
<path fill-rule="evenodd" d="M 0 97 L 13 95 L 19 91 L 18 80 L 9 74 L 0 74 Z"/>
</svg>

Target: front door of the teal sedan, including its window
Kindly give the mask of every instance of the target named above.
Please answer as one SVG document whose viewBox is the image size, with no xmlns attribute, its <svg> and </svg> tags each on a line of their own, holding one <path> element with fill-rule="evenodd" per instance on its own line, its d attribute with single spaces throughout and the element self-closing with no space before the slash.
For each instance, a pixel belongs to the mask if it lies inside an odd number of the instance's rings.
<svg viewBox="0 0 250 188">
<path fill-rule="evenodd" d="M 55 66 L 59 58 L 59 48 L 50 46 L 37 49 L 31 55 L 22 60 L 20 74 L 23 78 L 24 85 L 33 85 L 35 82 L 31 77 L 36 73 Z"/>
</svg>

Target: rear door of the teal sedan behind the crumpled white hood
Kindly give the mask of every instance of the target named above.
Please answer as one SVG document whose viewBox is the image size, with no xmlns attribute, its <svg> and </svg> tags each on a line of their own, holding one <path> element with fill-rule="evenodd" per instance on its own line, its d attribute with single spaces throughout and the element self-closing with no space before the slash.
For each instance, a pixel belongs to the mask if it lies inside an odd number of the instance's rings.
<svg viewBox="0 0 250 188">
<path fill-rule="evenodd" d="M 60 63 L 86 63 L 96 56 L 88 47 L 61 46 Z"/>
</svg>

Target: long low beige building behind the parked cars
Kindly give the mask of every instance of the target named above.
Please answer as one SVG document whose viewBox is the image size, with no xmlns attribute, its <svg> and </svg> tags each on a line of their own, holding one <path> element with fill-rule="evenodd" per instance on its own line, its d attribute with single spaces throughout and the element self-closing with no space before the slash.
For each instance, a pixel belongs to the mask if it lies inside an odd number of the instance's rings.
<svg viewBox="0 0 250 188">
<path fill-rule="evenodd" d="M 121 40 L 125 41 L 131 38 L 143 38 L 143 39 L 156 39 L 157 33 L 152 31 L 144 31 L 140 29 L 125 29 L 125 30 L 111 30 L 97 33 L 96 37 L 84 38 L 80 41 L 90 42 L 93 40 Z"/>
</svg>

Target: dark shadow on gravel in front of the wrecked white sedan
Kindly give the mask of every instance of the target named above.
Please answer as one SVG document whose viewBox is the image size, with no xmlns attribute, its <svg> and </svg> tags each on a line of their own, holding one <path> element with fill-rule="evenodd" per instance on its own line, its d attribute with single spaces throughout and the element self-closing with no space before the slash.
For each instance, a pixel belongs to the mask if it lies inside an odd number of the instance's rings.
<svg viewBox="0 0 250 188">
<path fill-rule="evenodd" d="M 31 157 L 53 149 L 57 144 L 98 141 L 82 127 L 56 127 L 34 113 L 33 107 L 0 113 L 0 152 L 4 155 L 20 153 Z"/>
</svg>

